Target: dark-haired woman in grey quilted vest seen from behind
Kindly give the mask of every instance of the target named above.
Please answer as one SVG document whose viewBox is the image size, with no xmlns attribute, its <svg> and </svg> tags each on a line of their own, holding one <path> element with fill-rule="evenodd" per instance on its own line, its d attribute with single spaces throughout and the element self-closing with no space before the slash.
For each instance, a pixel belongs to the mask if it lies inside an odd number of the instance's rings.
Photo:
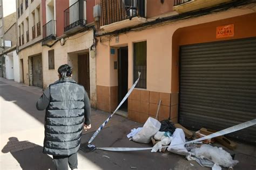
<svg viewBox="0 0 256 170">
<path fill-rule="evenodd" d="M 69 65 L 60 66 L 58 76 L 36 103 L 38 110 L 46 109 L 43 152 L 53 155 L 57 170 L 77 169 L 83 127 L 91 128 L 90 100 L 84 87 L 71 79 Z"/>
</svg>

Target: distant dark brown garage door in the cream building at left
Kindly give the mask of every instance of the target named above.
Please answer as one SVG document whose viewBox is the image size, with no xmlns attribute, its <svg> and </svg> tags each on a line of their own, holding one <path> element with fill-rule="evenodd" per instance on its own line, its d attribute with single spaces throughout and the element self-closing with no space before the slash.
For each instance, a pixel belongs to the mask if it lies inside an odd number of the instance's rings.
<svg viewBox="0 0 256 170">
<path fill-rule="evenodd" d="M 33 86 L 43 87 L 42 55 L 32 57 Z"/>
</svg>

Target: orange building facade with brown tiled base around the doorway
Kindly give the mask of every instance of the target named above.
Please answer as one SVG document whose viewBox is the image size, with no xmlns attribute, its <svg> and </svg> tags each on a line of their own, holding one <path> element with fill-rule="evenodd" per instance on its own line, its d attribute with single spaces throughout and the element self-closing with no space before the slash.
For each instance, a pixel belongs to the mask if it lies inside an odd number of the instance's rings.
<svg viewBox="0 0 256 170">
<path fill-rule="evenodd" d="M 160 12 L 154 11 L 152 9 L 153 4 L 150 3 L 156 3 Z M 169 7 L 167 8 L 165 5 L 169 5 Z M 159 18 L 159 16 L 184 15 L 183 12 L 177 13 L 180 12 L 177 10 L 177 6 L 176 11 L 173 10 L 173 2 L 161 4 L 160 1 L 147 1 L 146 6 L 147 22 L 156 18 L 154 16 Z M 133 30 L 130 29 L 124 33 L 116 31 L 113 34 L 107 34 L 108 29 L 114 30 L 114 24 L 116 24 L 116 30 L 122 27 L 120 25 L 123 21 L 112 23 L 109 27 L 101 26 L 101 31 L 106 34 L 97 38 L 97 108 L 107 112 L 116 109 L 120 102 L 119 77 L 123 74 L 119 73 L 118 70 L 119 66 L 122 66 L 118 63 L 119 53 L 122 53 L 122 49 L 127 49 L 127 54 L 124 55 L 127 55 L 127 66 L 125 67 L 127 67 L 127 87 L 130 89 L 135 80 L 134 53 L 136 52 L 134 51 L 134 44 L 146 41 L 146 85 L 145 88 L 134 89 L 129 96 L 127 117 L 136 122 L 144 123 L 148 117 L 156 117 L 158 103 L 161 100 L 159 121 L 170 117 L 172 122 L 180 122 L 180 47 L 205 42 L 256 37 L 256 13 L 255 7 L 253 8 L 254 10 L 229 8 L 186 19 L 178 19 L 177 17 L 155 25 L 141 26 L 140 29 L 134 27 Z M 133 22 L 133 19 L 138 18 L 132 18 L 130 22 Z M 233 25 L 233 36 L 225 37 L 224 35 L 217 38 L 217 28 L 230 24 Z M 117 63 L 118 69 L 115 67 Z"/>
</svg>

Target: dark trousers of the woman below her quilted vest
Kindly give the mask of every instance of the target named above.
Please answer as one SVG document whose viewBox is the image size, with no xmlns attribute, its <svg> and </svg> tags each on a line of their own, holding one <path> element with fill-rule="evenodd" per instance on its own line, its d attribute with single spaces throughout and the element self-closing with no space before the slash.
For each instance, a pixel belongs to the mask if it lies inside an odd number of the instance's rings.
<svg viewBox="0 0 256 170">
<path fill-rule="evenodd" d="M 53 161 L 57 170 L 69 170 L 77 168 L 77 153 L 69 156 L 55 156 L 53 155 Z M 69 166 L 68 166 L 69 165 Z"/>
</svg>

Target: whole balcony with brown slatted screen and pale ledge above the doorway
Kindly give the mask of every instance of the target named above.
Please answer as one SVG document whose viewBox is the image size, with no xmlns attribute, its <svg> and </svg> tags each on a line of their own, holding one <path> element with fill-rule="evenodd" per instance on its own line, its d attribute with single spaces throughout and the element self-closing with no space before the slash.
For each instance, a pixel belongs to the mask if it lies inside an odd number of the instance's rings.
<svg viewBox="0 0 256 170">
<path fill-rule="evenodd" d="M 111 32 L 125 27 L 135 26 L 146 22 L 145 0 L 119 1 L 101 0 L 101 27 L 100 29 Z"/>
</svg>

